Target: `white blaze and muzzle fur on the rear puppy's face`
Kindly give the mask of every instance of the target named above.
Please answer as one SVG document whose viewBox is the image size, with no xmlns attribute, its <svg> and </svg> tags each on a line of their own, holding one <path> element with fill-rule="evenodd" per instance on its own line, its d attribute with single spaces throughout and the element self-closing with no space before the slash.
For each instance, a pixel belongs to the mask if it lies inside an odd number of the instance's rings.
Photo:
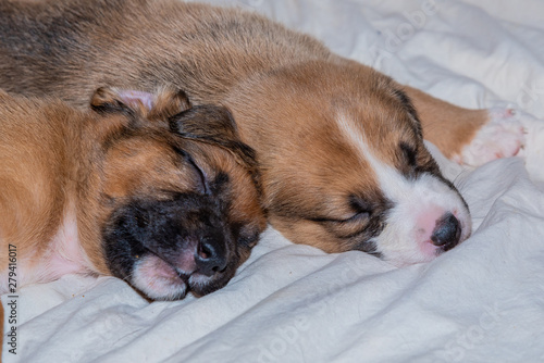
<svg viewBox="0 0 544 363">
<path fill-rule="evenodd" d="M 384 260 L 399 266 L 433 260 L 443 249 L 433 245 L 431 236 L 438 221 L 448 213 L 459 222 L 459 241 L 468 238 L 470 214 L 456 190 L 431 173 L 408 178 L 393 166 L 393 161 L 390 164 L 376 157 L 367 142 L 370 136 L 349 118 L 341 116 L 337 124 L 359 158 L 372 168 L 383 196 L 393 203 L 385 217 L 385 228 L 372 239 Z"/>
</svg>

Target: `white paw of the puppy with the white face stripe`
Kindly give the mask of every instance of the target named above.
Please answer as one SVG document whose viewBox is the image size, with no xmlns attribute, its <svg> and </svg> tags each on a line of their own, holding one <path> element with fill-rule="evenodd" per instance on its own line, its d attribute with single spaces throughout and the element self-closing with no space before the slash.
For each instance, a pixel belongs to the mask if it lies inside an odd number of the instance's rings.
<svg viewBox="0 0 544 363">
<path fill-rule="evenodd" d="M 462 149 L 455 161 L 471 166 L 517 155 L 526 146 L 526 128 L 518 111 L 511 108 L 490 109 L 490 121 Z"/>
</svg>

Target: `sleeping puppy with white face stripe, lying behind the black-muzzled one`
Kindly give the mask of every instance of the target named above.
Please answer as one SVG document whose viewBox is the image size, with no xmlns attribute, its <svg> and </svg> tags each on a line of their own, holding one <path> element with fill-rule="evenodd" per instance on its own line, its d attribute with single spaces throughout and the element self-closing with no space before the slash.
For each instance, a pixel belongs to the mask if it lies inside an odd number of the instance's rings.
<svg viewBox="0 0 544 363">
<path fill-rule="evenodd" d="M 228 107 L 257 151 L 269 221 L 294 242 L 406 265 L 471 233 L 423 137 L 468 160 L 487 112 L 403 87 L 257 14 L 175 0 L 3 1 L 0 47 L 11 91 L 84 107 L 97 85 L 170 83 Z M 512 150 L 474 163 L 515 154 L 512 133 Z"/>
</svg>

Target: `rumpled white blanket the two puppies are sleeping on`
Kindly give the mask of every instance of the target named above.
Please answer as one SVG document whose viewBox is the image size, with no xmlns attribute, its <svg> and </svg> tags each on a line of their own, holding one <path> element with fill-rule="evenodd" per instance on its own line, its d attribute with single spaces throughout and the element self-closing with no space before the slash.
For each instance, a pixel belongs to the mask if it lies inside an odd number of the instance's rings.
<svg viewBox="0 0 544 363">
<path fill-rule="evenodd" d="M 515 105 L 527 165 L 472 171 L 437 155 L 474 233 L 426 264 L 325 254 L 270 228 L 200 299 L 148 303 L 112 277 L 23 288 L 17 354 L 4 346 L 4 362 L 544 362 L 544 122 L 530 116 L 544 118 L 544 2 L 211 2 L 262 12 L 454 103 Z"/>
</svg>

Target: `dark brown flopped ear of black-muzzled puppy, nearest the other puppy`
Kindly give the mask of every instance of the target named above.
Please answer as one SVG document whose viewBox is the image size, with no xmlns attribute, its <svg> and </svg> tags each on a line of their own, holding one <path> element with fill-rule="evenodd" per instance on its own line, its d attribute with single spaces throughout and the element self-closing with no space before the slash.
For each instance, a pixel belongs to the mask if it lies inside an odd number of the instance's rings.
<svg viewBox="0 0 544 363">
<path fill-rule="evenodd" d="M 170 129 L 184 138 L 220 146 L 255 171 L 256 153 L 238 135 L 231 112 L 224 107 L 196 105 L 170 117 Z"/>
</svg>

